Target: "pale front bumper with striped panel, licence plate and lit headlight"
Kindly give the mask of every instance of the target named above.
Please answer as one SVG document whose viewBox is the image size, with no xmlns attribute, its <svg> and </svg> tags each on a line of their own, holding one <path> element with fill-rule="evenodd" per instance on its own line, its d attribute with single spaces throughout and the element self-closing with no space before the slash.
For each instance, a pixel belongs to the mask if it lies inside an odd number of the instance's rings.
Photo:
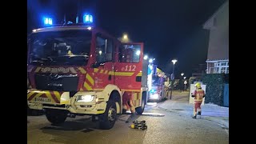
<svg viewBox="0 0 256 144">
<path fill-rule="evenodd" d="M 28 90 L 27 102 L 30 109 L 69 110 L 74 114 L 103 114 L 106 101 L 95 92 L 78 92 L 70 97 L 70 92 Z"/>
</svg>

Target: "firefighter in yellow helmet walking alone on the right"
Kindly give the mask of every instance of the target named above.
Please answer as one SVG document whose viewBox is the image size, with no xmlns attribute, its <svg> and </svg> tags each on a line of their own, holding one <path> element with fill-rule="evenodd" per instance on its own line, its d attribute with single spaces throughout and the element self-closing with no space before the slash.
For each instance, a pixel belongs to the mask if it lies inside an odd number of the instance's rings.
<svg viewBox="0 0 256 144">
<path fill-rule="evenodd" d="M 194 87 L 196 89 L 192 93 L 192 97 L 194 98 L 194 114 L 193 118 L 197 118 L 197 111 L 198 115 L 201 115 L 201 104 L 202 104 L 202 98 L 205 98 L 206 94 L 205 91 L 202 90 L 201 84 L 197 82 Z"/>
</svg>

